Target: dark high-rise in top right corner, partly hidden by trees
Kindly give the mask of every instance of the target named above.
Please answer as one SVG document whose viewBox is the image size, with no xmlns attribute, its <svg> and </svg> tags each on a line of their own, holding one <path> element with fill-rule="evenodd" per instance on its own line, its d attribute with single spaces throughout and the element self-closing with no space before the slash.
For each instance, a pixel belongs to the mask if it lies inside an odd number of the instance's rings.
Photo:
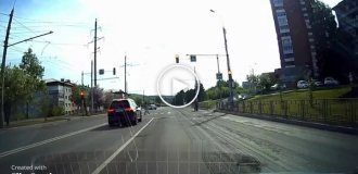
<svg viewBox="0 0 358 174">
<path fill-rule="evenodd" d="M 358 58 L 358 1 L 343 0 L 333 8 L 341 29 L 353 38 L 351 54 Z"/>
</svg>

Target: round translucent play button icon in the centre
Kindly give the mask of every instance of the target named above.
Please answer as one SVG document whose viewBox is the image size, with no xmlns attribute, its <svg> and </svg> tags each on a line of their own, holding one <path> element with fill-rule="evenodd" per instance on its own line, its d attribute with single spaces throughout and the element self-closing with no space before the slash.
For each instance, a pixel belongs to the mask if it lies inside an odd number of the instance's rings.
<svg viewBox="0 0 358 174">
<path fill-rule="evenodd" d="M 186 64 L 172 64 L 159 74 L 156 89 L 164 103 L 172 108 L 184 108 L 193 103 L 199 95 L 199 78 L 195 72 Z M 190 91 L 190 92 L 189 92 Z M 191 95 L 186 95 L 186 94 Z M 193 96 L 193 92 L 195 95 Z M 174 99 L 180 98 L 181 104 L 174 103 Z"/>
</svg>

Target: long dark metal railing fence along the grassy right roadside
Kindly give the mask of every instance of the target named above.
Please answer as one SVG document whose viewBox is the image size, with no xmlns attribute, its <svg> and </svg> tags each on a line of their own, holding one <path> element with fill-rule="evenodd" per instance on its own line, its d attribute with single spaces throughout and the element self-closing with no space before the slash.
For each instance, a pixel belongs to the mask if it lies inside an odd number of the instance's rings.
<svg viewBox="0 0 358 174">
<path fill-rule="evenodd" d="M 216 109 L 342 126 L 358 126 L 358 99 L 243 100 L 233 104 L 216 102 Z"/>
</svg>

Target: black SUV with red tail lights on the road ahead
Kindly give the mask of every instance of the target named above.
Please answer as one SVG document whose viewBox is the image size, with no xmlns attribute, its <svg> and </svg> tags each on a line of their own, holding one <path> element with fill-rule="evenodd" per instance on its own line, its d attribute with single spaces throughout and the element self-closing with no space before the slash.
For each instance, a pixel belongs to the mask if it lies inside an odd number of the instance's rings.
<svg viewBox="0 0 358 174">
<path fill-rule="evenodd" d="M 141 108 L 132 99 L 114 99 L 107 109 L 108 125 L 137 125 L 142 121 Z"/>
</svg>

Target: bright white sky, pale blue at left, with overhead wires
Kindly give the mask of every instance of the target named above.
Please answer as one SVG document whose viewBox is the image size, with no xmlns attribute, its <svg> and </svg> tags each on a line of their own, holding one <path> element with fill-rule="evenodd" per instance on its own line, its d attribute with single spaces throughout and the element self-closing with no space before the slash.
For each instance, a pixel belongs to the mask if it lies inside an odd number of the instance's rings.
<svg viewBox="0 0 358 174">
<path fill-rule="evenodd" d="M 341 0 L 322 0 L 334 7 Z M 1 0 L 0 38 L 5 36 L 10 11 L 14 20 L 10 44 L 47 35 L 9 48 L 7 64 L 20 63 L 31 48 L 44 66 L 43 78 L 65 78 L 90 85 L 94 21 L 98 20 L 98 80 L 104 89 L 124 89 L 127 58 L 128 91 L 157 95 L 156 80 L 165 67 L 180 63 L 195 69 L 204 88 L 216 84 L 216 57 L 225 54 L 222 26 L 227 29 L 233 79 L 241 84 L 255 74 L 280 67 L 273 17 L 269 0 Z M 212 13 L 209 10 L 215 10 Z M 1 47 L 0 51 L 3 51 Z M 227 79 L 227 61 L 219 59 Z M 116 75 L 113 75 L 116 67 Z"/>
</svg>

